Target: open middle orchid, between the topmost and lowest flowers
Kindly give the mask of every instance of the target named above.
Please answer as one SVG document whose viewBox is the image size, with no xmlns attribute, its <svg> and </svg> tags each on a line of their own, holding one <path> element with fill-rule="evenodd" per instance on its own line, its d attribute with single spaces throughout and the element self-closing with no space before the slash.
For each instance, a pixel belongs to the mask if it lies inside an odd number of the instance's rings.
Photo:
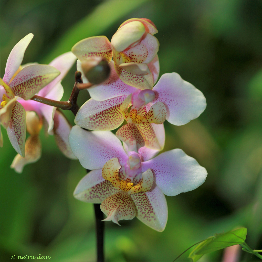
<svg viewBox="0 0 262 262">
<path fill-rule="evenodd" d="M 89 90 L 92 98 L 79 109 L 75 123 L 89 130 L 113 130 L 126 120 L 116 135 L 131 151 L 144 145 L 162 150 L 165 119 L 183 125 L 206 108 L 202 92 L 177 73 L 163 74 L 153 90 L 139 90 L 123 83 L 110 64 L 110 78 Z"/>
</svg>

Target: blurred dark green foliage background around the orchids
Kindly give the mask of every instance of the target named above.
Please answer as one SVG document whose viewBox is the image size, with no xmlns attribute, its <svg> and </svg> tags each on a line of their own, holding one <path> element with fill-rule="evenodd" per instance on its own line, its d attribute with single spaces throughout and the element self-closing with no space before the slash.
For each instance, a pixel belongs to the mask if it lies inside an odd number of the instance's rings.
<svg viewBox="0 0 262 262">
<path fill-rule="evenodd" d="M 165 122 L 164 149 L 194 157 L 207 169 L 206 182 L 166 197 L 162 233 L 136 218 L 120 221 L 121 227 L 105 222 L 106 261 L 173 261 L 195 242 L 238 226 L 248 228 L 250 247 L 262 248 L 262 1 L 1 0 L 0 8 L 1 77 L 13 46 L 29 32 L 34 38 L 23 63 L 49 63 L 85 37 L 110 40 L 123 21 L 144 17 L 159 31 L 160 75 L 177 72 L 206 96 L 198 119 L 183 126 Z M 62 82 L 63 100 L 75 70 Z M 81 91 L 79 105 L 87 99 Z M 65 113 L 73 124 L 73 114 Z M 2 133 L 0 261 L 39 254 L 52 262 L 95 261 L 93 205 L 72 195 L 84 168 L 42 130 L 41 159 L 17 174 L 9 168 L 16 152 Z M 201 261 L 221 259 L 218 251 Z M 241 253 L 240 261 L 255 260 Z"/>
</svg>

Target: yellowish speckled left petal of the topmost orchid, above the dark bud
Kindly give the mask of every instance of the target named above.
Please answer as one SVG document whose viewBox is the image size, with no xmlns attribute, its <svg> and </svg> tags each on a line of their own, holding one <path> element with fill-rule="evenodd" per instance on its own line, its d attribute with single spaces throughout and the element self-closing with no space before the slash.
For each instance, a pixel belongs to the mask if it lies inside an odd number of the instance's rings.
<svg viewBox="0 0 262 262">
<path fill-rule="evenodd" d="M 72 47 L 72 52 L 80 61 L 92 56 L 101 56 L 109 63 L 113 57 L 112 46 L 106 36 L 83 39 Z"/>
</svg>

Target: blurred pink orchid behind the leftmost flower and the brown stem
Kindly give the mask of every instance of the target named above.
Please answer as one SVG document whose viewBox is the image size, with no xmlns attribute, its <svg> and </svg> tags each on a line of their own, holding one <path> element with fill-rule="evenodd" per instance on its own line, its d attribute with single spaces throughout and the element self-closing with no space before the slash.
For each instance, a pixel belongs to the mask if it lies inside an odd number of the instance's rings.
<svg viewBox="0 0 262 262">
<path fill-rule="evenodd" d="M 63 86 L 61 85 L 61 80 L 65 77 L 68 70 L 72 67 L 75 61 L 76 56 L 74 56 L 72 52 L 64 53 L 55 58 L 49 65 L 58 69 L 61 74 L 51 83 L 42 88 L 36 95 L 60 101 L 64 93 Z M 36 112 L 41 123 L 45 121 L 45 123 L 47 124 L 47 133 L 51 135 L 54 134 L 58 148 L 65 156 L 70 159 L 76 159 L 68 143 L 68 135 L 71 130 L 71 125 L 68 123 L 62 113 L 56 111 L 56 107 L 49 106 L 44 103 L 39 103 L 34 100 L 17 99 L 17 101 L 19 101 L 19 103 L 24 107 L 26 112 L 30 111 L 30 114 L 33 113 L 32 111 Z M 30 124 L 31 121 L 35 122 L 35 118 L 37 118 L 37 116 L 35 116 L 34 118 L 30 117 L 29 119 L 26 119 L 27 125 Z M 31 136 L 30 139 L 28 138 L 26 140 L 25 158 L 23 159 L 19 155 L 15 156 L 11 165 L 11 168 L 14 168 L 15 171 L 21 173 L 23 171 L 23 167 L 26 164 L 36 162 L 41 157 L 42 146 L 38 138 L 39 132 L 34 134 L 34 139 L 32 139 Z M 67 136 L 65 134 L 67 134 Z M 39 143 L 32 144 L 30 143 L 31 141 L 39 141 Z"/>
</svg>

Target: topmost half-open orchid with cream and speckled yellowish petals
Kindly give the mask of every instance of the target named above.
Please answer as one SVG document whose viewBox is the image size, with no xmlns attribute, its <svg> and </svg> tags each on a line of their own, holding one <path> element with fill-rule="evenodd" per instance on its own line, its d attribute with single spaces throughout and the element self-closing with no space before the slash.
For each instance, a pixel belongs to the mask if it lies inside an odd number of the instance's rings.
<svg viewBox="0 0 262 262">
<path fill-rule="evenodd" d="M 72 47 L 77 56 L 77 70 L 84 73 L 82 63 L 102 57 L 108 63 L 112 57 L 119 78 L 138 89 L 152 89 L 159 75 L 159 42 L 153 34 L 158 31 L 146 18 L 132 18 L 120 25 L 111 39 L 94 36 L 83 39 Z M 88 80 L 83 76 L 83 83 Z"/>
</svg>

